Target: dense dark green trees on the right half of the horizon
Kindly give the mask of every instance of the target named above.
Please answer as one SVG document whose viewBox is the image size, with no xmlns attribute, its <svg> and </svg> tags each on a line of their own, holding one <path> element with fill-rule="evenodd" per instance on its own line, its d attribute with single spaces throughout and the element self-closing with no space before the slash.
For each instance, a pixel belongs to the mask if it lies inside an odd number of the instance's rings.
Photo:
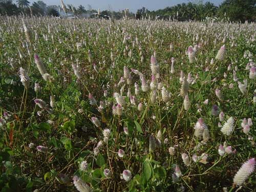
<svg viewBox="0 0 256 192">
<path fill-rule="evenodd" d="M 137 18 L 172 18 L 176 20 L 204 20 L 207 17 L 228 18 L 230 21 L 249 22 L 256 19 L 256 0 L 225 0 L 220 6 L 210 2 L 183 3 L 157 11 L 145 7 L 136 13 Z"/>
</svg>

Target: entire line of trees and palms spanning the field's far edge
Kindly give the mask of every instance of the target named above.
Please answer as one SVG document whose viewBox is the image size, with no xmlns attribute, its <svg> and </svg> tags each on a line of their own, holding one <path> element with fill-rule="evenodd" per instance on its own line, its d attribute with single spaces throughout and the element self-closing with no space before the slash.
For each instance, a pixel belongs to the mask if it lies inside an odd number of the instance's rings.
<svg viewBox="0 0 256 192">
<path fill-rule="evenodd" d="M 74 16 L 86 16 L 92 13 L 98 13 L 92 9 L 90 5 L 87 9 L 80 5 L 77 8 L 68 5 L 66 11 Z M 61 6 L 46 5 L 43 1 L 33 2 L 30 4 L 28 0 L 0 0 L 1 15 L 49 15 L 59 16 Z M 225 0 L 220 6 L 215 6 L 210 2 L 203 3 L 203 0 L 197 3 L 182 3 L 172 7 L 166 7 L 156 11 L 149 11 L 145 7 L 138 9 L 136 14 L 122 11 L 103 10 L 101 15 L 108 15 L 115 19 L 123 18 L 151 18 L 151 19 L 175 19 L 175 20 L 204 20 L 205 18 L 227 18 L 230 21 L 248 22 L 256 19 L 256 0 Z"/>
</svg>

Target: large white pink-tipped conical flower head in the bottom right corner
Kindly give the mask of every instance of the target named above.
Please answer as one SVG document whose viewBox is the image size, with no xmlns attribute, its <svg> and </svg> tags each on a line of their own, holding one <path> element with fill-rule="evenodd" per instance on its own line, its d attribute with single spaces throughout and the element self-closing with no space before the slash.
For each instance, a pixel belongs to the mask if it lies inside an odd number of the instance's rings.
<svg viewBox="0 0 256 192">
<path fill-rule="evenodd" d="M 254 172 L 255 164 L 255 158 L 251 158 L 248 161 L 246 161 L 238 170 L 237 174 L 234 176 L 234 184 L 242 185 L 245 182 L 245 180 Z"/>
</svg>

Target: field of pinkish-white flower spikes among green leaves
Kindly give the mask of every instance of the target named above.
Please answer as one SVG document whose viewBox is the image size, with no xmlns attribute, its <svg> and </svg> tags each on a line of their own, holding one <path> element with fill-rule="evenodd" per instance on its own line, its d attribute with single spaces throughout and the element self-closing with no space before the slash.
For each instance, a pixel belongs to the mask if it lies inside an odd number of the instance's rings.
<svg viewBox="0 0 256 192">
<path fill-rule="evenodd" d="M 255 31 L 0 17 L 0 190 L 255 191 Z"/>
</svg>

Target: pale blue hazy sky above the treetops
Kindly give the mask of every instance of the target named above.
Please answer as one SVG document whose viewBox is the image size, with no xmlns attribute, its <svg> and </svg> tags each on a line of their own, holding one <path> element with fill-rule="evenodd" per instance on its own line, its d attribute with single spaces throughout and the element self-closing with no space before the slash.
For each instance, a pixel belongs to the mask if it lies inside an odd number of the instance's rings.
<svg viewBox="0 0 256 192">
<path fill-rule="evenodd" d="M 36 2 L 34 0 L 29 0 L 30 2 Z M 47 5 L 60 5 L 60 0 L 42 0 Z M 63 0 L 66 5 L 72 4 L 75 7 L 79 5 L 88 8 L 88 4 L 92 6 L 93 9 L 106 10 L 111 9 L 114 11 L 123 10 L 129 8 L 130 11 L 136 12 L 142 7 L 148 10 L 163 9 L 167 6 L 173 6 L 181 3 L 195 2 L 195 0 Z M 211 2 L 215 5 L 219 5 L 223 0 L 205 0 L 204 2 Z"/>
</svg>

